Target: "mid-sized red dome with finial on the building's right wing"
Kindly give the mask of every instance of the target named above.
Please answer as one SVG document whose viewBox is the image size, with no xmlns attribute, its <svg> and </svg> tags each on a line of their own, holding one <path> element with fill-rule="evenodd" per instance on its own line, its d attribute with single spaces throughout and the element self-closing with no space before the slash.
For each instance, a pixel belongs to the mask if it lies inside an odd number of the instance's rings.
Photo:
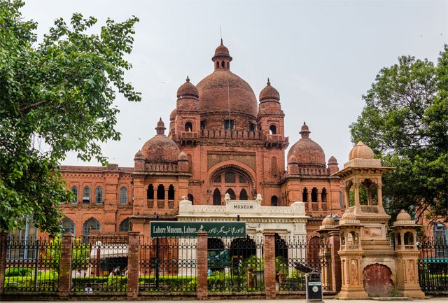
<svg viewBox="0 0 448 303">
<path fill-rule="evenodd" d="M 325 153 L 318 143 L 309 139 L 309 133 L 309 128 L 304 123 L 300 132 L 302 139 L 291 146 L 288 151 L 288 159 L 295 156 L 300 165 L 325 167 Z"/>
</svg>

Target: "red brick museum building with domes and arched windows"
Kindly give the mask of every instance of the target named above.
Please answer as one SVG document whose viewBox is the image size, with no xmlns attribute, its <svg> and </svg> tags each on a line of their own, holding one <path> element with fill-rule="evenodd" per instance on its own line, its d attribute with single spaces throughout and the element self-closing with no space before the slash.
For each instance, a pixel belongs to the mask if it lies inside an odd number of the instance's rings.
<svg viewBox="0 0 448 303">
<path fill-rule="evenodd" d="M 76 194 L 62 204 L 66 230 L 80 236 L 132 225 L 146 234 L 156 217 L 176 220 L 183 197 L 196 205 L 221 205 L 226 193 L 232 200 L 261 194 L 265 206 L 304 202 L 309 236 L 328 213 L 343 211 L 340 179 L 330 176 L 338 171 L 337 160 L 325 164 L 307 125 L 285 159 L 285 114 L 269 79 L 257 100 L 251 86 L 230 71 L 232 57 L 222 41 L 212 61 L 213 73 L 197 85 L 187 78 L 179 87 L 169 129 L 158 121 L 134 167 L 62 167 Z"/>
</svg>

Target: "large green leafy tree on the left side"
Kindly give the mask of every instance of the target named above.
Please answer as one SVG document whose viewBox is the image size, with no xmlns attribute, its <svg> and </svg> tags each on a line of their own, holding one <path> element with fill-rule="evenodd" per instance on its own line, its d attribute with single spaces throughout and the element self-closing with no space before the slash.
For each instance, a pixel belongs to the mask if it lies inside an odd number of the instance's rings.
<svg viewBox="0 0 448 303">
<path fill-rule="evenodd" d="M 100 34 L 87 34 L 97 20 L 74 13 L 69 24 L 56 20 L 38 43 L 23 5 L 0 0 L 0 231 L 20 228 L 32 215 L 54 234 L 57 205 L 71 200 L 59 162 L 75 151 L 106 164 L 99 143 L 120 139 L 116 92 L 141 99 L 124 78 L 138 19 L 108 19 Z"/>
</svg>

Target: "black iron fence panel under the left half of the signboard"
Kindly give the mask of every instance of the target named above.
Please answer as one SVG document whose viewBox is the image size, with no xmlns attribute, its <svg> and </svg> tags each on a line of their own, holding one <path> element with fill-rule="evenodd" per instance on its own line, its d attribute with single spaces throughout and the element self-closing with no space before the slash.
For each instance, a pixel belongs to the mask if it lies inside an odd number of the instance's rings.
<svg viewBox="0 0 448 303">
<path fill-rule="evenodd" d="M 142 238 L 139 292 L 196 292 L 196 255 L 196 238 Z"/>
</svg>

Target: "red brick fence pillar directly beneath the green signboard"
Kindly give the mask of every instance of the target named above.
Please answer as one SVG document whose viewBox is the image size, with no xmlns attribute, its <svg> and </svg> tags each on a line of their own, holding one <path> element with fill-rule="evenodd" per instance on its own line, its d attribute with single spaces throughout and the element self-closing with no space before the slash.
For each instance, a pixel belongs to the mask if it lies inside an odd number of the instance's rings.
<svg viewBox="0 0 448 303">
<path fill-rule="evenodd" d="M 197 233 L 197 300 L 207 300 L 207 232 Z"/>
</svg>

